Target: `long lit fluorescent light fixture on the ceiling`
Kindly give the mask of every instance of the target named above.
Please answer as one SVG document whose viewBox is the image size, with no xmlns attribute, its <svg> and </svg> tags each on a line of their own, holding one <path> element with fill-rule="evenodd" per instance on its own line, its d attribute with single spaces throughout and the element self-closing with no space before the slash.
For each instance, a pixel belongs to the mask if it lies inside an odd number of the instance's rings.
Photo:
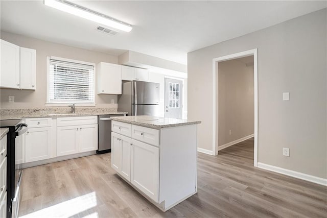
<svg viewBox="0 0 327 218">
<path fill-rule="evenodd" d="M 116 20 L 105 14 L 92 11 L 90 9 L 84 8 L 71 2 L 63 0 L 44 0 L 44 5 L 67 12 L 69 14 L 74 14 L 76 16 L 101 23 L 102 25 L 106 25 L 114 29 L 122 30 L 125 32 L 130 32 L 132 30 L 132 26 L 128 23 Z"/>
</svg>

